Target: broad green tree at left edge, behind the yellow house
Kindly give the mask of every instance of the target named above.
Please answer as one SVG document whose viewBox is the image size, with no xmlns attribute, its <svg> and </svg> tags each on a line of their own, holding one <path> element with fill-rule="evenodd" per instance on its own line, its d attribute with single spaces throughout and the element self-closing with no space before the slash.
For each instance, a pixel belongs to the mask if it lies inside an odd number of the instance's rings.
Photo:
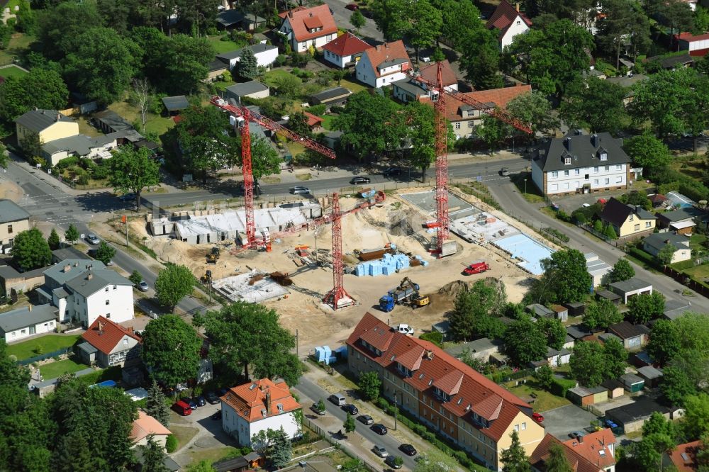
<svg viewBox="0 0 709 472">
<path fill-rule="evenodd" d="M 50 69 L 32 69 L 21 77 L 8 77 L 0 86 L 0 117 L 12 121 L 33 107 L 63 110 L 69 90 L 62 77 Z"/>
</svg>

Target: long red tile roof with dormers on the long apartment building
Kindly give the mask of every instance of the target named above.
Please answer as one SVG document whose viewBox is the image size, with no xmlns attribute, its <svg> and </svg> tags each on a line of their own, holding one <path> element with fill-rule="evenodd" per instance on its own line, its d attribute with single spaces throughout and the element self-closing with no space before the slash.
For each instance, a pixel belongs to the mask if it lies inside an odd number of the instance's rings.
<svg viewBox="0 0 709 472">
<path fill-rule="evenodd" d="M 373 332 L 377 333 L 376 337 L 372 336 Z M 384 333 L 390 335 L 385 336 Z M 361 340 L 370 339 L 367 342 L 372 344 L 372 338 L 380 341 L 379 346 L 383 348 L 377 347 L 377 349 L 382 351 L 381 356 L 376 356 L 361 342 Z M 386 343 L 381 342 L 382 339 L 386 339 Z M 362 320 L 359 320 L 357 327 L 347 338 L 347 345 L 400 377 L 401 373 L 398 371 L 396 363 L 401 360 L 402 356 L 407 361 L 408 356 L 413 356 L 413 354 L 408 354 L 409 352 L 414 349 L 420 351 L 420 348 L 423 348 L 424 354 L 418 369 L 413 371 L 411 377 L 404 377 L 403 381 L 418 392 L 430 395 L 432 400 L 435 400 L 432 391 L 435 386 L 451 392 L 450 401 L 445 403 L 435 401 L 440 403 L 440 406 L 450 414 L 462 417 L 496 442 L 506 432 L 520 411 L 524 410 L 529 415 L 532 414 L 530 405 L 518 396 L 498 386 L 489 378 L 463 364 L 462 361 L 450 356 L 435 344 L 393 332 L 386 323 L 371 313 L 366 313 Z M 488 398 L 493 398 L 493 400 L 487 400 Z M 491 420 L 489 427 L 475 422 L 473 413 L 489 417 Z M 496 419 L 493 420 L 493 418 Z"/>
</svg>

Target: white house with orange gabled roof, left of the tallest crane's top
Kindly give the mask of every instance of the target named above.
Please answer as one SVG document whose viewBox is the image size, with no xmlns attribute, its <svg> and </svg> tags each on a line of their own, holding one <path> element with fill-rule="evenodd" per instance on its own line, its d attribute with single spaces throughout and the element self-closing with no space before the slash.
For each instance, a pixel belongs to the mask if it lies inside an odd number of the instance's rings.
<svg viewBox="0 0 709 472">
<path fill-rule="evenodd" d="M 354 66 L 357 80 L 375 89 L 406 79 L 409 69 L 411 59 L 402 40 L 364 50 L 362 58 Z"/>
</svg>

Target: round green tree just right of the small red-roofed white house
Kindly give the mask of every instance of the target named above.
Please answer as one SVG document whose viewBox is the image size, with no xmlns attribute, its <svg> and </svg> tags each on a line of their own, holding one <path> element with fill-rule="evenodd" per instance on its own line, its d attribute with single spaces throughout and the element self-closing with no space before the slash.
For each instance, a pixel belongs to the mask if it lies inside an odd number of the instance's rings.
<svg viewBox="0 0 709 472">
<path fill-rule="evenodd" d="M 156 381 L 174 387 L 196 376 L 201 347 L 202 340 L 182 318 L 164 315 L 145 326 L 140 356 Z"/>
</svg>

